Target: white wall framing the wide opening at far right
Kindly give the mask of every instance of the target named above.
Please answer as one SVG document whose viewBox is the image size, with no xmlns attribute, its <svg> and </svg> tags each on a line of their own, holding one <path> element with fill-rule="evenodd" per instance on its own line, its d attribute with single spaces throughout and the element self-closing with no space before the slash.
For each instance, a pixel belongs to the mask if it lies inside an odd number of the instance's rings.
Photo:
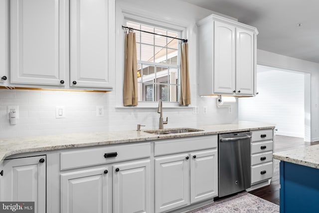
<svg viewBox="0 0 319 213">
<path fill-rule="evenodd" d="M 309 120 L 306 121 L 306 123 L 310 123 L 310 127 L 306 127 L 306 129 L 311 129 L 311 136 L 307 136 L 310 140 L 307 139 L 306 141 L 319 141 L 319 64 L 264 50 L 257 50 L 257 64 L 311 74 L 311 116 L 309 118 L 308 113 L 306 115 L 307 119 L 311 119 L 310 122 Z M 305 97 L 307 95 L 309 96 L 306 93 Z"/>
</svg>

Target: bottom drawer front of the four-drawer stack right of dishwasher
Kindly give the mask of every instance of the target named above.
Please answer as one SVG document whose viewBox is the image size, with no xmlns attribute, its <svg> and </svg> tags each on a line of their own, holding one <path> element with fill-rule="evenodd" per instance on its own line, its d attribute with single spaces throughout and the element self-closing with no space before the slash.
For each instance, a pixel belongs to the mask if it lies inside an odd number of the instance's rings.
<svg viewBox="0 0 319 213">
<path fill-rule="evenodd" d="M 273 162 L 251 167 L 251 183 L 265 181 L 273 177 Z"/>
</svg>

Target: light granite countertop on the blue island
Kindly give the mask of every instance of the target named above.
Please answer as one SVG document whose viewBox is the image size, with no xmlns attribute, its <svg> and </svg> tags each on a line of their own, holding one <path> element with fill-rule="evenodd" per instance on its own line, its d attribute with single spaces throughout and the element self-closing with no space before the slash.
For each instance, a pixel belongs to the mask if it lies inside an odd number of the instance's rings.
<svg viewBox="0 0 319 213">
<path fill-rule="evenodd" d="M 274 159 L 319 169 L 319 145 L 273 154 Z"/>
</svg>

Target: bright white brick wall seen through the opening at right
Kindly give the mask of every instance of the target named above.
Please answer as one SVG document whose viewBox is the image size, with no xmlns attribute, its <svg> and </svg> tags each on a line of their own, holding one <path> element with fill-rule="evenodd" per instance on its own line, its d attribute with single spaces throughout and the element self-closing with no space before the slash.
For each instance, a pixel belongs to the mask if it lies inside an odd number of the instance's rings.
<svg viewBox="0 0 319 213">
<path fill-rule="evenodd" d="M 277 135 L 305 136 L 304 73 L 257 68 L 258 95 L 239 98 L 239 120 L 276 124 Z"/>
</svg>

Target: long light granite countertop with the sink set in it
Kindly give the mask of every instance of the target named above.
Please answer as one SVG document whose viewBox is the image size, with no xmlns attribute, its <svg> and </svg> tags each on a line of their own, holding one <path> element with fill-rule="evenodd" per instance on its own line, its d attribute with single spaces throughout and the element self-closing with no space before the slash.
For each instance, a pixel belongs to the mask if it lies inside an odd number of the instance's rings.
<svg viewBox="0 0 319 213">
<path fill-rule="evenodd" d="M 274 129 L 274 124 L 239 121 L 235 124 L 221 124 L 202 126 L 196 129 L 204 131 L 155 135 L 136 130 L 74 133 L 61 135 L 47 135 L 34 137 L 20 137 L 0 139 L 0 163 L 8 156 L 29 152 L 41 152 L 75 147 L 89 147 L 108 144 L 121 144 L 160 139 L 182 138 L 200 135 L 213 135 L 219 133 L 242 132 L 260 129 Z M 173 129 L 173 128 L 172 128 Z"/>
</svg>

